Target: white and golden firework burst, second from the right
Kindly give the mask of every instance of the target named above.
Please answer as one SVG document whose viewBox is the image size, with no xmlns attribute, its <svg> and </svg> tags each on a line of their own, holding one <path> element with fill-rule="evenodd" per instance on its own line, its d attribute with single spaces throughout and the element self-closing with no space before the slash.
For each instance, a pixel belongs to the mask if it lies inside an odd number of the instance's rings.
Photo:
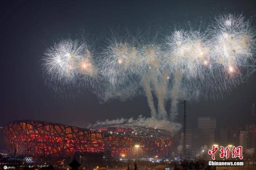
<svg viewBox="0 0 256 170">
<path fill-rule="evenodd" d="M 189 77 L 202 76 L 202 67 L 208 65 L 209 48 L 198 31 L 175 31 L 165 38 L 166 55 L 173 71 L 181 69 Z"/>
</svg>

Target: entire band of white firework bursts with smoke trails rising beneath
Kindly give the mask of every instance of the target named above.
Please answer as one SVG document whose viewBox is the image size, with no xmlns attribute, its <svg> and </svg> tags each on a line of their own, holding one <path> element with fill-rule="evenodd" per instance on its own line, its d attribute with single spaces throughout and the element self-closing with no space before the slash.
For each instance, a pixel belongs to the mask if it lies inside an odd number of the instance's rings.
<svg viewBox="0 0 256 170">
<path fill-rule="evenodd" d="M 222 98 L 252 72 L 248 65 L 255 61 L 255 30 L 241 15 L 221 15 L 205 32 L 173 31 L 162 41 L 134 37 L 112 33 L 97 62 L 87 43 L 63 40 L 45 53 L 44 78 L 58 92 L 98 84 L 103 101 L 145 94 L 152 118 L 175 121 L 179 100 L 195 94 Z"/>
</svg>

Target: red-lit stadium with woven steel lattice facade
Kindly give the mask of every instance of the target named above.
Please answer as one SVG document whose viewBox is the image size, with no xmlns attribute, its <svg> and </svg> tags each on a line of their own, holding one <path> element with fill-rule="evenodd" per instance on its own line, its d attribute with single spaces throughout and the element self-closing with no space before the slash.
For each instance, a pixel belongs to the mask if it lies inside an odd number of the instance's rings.
<svg viewBox="0 0 256 170">
<path fill-rule="evenodd" d="M 173 132 L 147 124 L 124 124 L 96 129 L 64 124 L 22 120 L 4 126 L 7 149 L 16 155 L 69 156 L 76 152 L 109 152 L 113 158 L 165 158 L 172 145 Z M 136 146 L 136 147 L 135 147 Z"/>
</svg>

